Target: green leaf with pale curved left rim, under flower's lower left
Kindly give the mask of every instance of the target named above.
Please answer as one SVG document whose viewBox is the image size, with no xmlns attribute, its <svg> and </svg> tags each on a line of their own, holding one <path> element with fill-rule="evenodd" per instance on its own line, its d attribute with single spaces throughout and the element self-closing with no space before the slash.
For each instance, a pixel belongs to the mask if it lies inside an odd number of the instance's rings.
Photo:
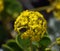
<svg viewBox="0 0 60 51">
<path fill-rule="evenodd" d="M 30 46 L 30 40 L 29 39 L 21 39 L 20 35 L 16 36 L 16 43 L 23 49 L 26 49 Z"/>
</svg>

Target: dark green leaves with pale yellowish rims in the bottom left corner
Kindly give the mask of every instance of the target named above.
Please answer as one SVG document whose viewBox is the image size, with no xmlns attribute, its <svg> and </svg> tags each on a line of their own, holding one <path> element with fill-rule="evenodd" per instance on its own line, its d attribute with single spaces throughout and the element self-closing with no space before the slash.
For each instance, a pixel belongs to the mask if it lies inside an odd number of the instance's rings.
<svg viewBox="0 0 60 51">
<path fill-rule="evenodd" d="M 8 40 L 6 44 L 2 45 L 4 51 L 23 51 L 15 42 L 15 40 Z"/>
</svg>

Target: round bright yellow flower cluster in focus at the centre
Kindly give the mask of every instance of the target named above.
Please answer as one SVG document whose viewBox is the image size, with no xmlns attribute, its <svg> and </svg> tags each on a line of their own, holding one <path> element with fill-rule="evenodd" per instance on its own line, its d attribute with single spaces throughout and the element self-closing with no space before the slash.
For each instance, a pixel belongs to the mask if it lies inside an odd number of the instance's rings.
<svg viewBox="0 0 60 51">
<path fill-rule="evenodd" d="M 22 28 L 27 28 L 21 34 L 21 39 L 30 38 L 31 41 L 39 41 L 44 36 L 47 22 L 43 15 L 37 11 L 23 11 L 14 23 L 14 30 L 21 32 Z"/>
</svg>

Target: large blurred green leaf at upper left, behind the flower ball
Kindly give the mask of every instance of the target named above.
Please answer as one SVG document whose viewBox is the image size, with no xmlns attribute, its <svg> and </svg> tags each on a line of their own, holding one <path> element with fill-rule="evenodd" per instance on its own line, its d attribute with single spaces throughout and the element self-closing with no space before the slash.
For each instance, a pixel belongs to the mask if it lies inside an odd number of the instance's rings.
<svg viewBox="0 0 60 51">
<path fill-rule="evenodd" d="M 17 17 L 22 10 L 22 4 L 17 0 L 5 0 L 5 11 L 12 17 Z"/>
</svg>

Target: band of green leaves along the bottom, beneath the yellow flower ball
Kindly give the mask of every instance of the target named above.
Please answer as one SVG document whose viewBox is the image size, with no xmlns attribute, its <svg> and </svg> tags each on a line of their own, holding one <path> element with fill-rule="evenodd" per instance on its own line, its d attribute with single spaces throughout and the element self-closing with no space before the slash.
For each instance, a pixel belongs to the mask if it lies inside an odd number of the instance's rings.
<svg viewBox="0 0 60 51">
<path fill-rule="evenodd" d="M 43 37 L 40 41 L 31 42 L 29 39 L 21 39 L 20 35 L 17 35 L 15 40 L 8 40 L 3 45 L 4 50 L 10 51 L 45 51 L 45 48 L 51 43 L 49 37 Z"/>
</svg>

